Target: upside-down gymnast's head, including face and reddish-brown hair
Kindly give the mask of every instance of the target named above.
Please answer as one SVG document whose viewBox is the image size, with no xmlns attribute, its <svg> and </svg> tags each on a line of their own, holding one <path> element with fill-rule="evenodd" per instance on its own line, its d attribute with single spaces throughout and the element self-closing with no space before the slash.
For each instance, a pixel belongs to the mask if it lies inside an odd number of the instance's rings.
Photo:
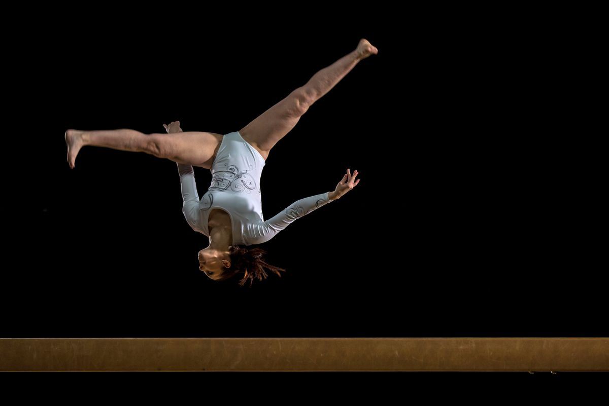
<svg viewBox="0 0 609 406">
<path fill-rule="evenodd" d="M 243 286 L 247 280 L 250 286 L 255 279 L 259 281 L 267 278 L 265 269 L 281 277 L 280 267 L 267 263 L 263 255 L 266 251 L 259 248 L 242 248 L 230 246 L 227 251 L 211 249 L 209 247 L 199 251 L 199 269 L 209 278 L 224 281 L 239 276 L 239 285 Z"/>
</svg>

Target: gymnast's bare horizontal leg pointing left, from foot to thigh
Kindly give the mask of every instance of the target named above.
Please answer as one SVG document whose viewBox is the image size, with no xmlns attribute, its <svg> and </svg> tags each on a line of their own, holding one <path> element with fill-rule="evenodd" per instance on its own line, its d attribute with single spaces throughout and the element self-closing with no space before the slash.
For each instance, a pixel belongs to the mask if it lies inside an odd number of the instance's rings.
<svg viewBox="0 0 609 406">
<path fill-rule="evenodd" d="M 74 168 L 76 156 L 85 145 L 105 146 L 113 150 L 144 152 L 183 165 L 211 168 L 222 141 L 221 134 L 187 131 L 175 134 L 144 134 L 133 129 L 79 131 L 68 129 L 68 163 Z"/>
</svg>

